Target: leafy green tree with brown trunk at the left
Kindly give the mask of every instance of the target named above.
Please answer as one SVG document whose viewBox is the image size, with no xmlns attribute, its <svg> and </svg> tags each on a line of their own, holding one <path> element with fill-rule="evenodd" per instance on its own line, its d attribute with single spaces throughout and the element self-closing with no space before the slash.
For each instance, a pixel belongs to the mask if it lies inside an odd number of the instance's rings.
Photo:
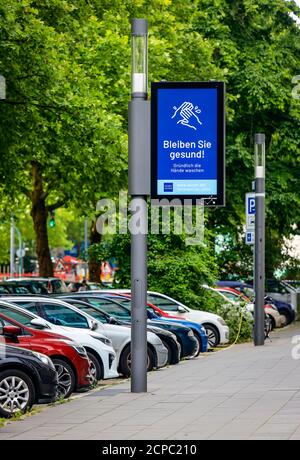
<svg viewBox="0 0 300 460">
<path fill-rule="evenodd" d="M 109 51 L 97 18 L 80 6 L 0 1 L 0 66 L 7 81 L 0 105 L 1 191 L 11 197 L 10 209 L 20 193 L 30 202 L 43 276 L 53 273 L 49 212 L 71 202 L 84 208 L 96 191 L 109 193 L 126 177 L 126 136 L 99 71 Z"/>
</svg>

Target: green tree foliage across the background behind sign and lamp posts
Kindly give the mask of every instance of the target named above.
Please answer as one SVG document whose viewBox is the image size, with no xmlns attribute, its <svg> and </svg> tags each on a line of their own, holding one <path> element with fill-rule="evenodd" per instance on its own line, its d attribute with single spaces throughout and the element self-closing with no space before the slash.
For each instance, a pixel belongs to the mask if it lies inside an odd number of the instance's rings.
<svg viewBox="0 0 300 460">
<path fill-rule="evenodd" d="M 285 0 L 0 0 L 2 213 L 29 203 L 39 258 L 50 257 L 49 210 L 92 213 L 127 187 L 130 19 L 147 17 L 149 81 L 227 83 L 227 203 L 208 212 L 213 233 L 230 236 L 224 265 L 237 248 L 249 255 L 240 243 L 244 194 L 254 133 L 266 133 L 273 273 L 284 238 L 299 232 L 300 103 L 291 93 L 300 29 L 291 12 L 299 15 Z"/>
</svg>

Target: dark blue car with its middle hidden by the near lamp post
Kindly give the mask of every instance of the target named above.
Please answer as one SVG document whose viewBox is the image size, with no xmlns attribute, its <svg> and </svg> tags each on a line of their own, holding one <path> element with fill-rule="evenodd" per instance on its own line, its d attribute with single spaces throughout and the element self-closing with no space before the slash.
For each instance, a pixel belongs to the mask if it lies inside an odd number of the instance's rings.
<svg viewBox="0 0 300 460">
<path fill-rule="evenodd" d="M 86 313 L 90 314 L 91 316 L 95 316 L 95 312 L 93 313 L 92 309 L 97 309 L 98 311 L 105 312 L 108 317 L 113 317 L 119 321 L 119 324 L 124 325 L 124 323 L 128 324 L 131 321 L 131 311 L 130 308 L 120 305 L 118 302 L 114 301 L 111 298 L 104 297 L 104 296 L 89 296 L 88 293 L 86 295 L 76 295 L 70 294 L 69 296 L 63 296 L 65 302 L 70 302 L 75 307 L 84 310 Z M 59 298 L 62 298 L 58 296 Z M 174 324 L 168 321 L 151 321 L 152 313 L 147 310 L 148 315 L 148 330 L 149 328 L 155 329 L 163 329 L 165 332 L 171 332 L 177 338 L 178 343 L 180 344 L 180 358 L 185 357 L 192 357 L 198 356 L 200 353 L 200 346 L 195 338 L 193 331 L 189 327 L 183 326 L 181 324 Z M 101 319 L 99 318 L 99 321 Z M 155 332 L 159 338 L 164 343 L 165 341 L 159 335 L 159 333 Z M 161 334 L 162 335 L 162 334 Z M 164 343 L 165 345 L 165 343 Z M 166 345 L 166 348 L 168 346 Z M 168 348 L 169 349 L 169 348 Z M 173 364 L 170 361 L 170 364 Z M 175 363 L 174 363 L 175 364 Z"/>
</svg>

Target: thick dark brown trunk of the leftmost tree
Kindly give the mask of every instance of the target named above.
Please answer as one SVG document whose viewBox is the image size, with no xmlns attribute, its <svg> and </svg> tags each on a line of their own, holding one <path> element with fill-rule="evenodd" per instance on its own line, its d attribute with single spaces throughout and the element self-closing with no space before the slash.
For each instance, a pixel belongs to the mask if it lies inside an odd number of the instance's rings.
<svg viewBox="0 0 300 460">
<path fill-rule="evenodd" d="M 46 206 L 46 194 L 43 190 L 43 178 L 40 165 L 32 162 L 32 183 L 31 194 L 31 217 L 33 219 L 34 231 L 36 236 L 36 252 L 39 263 L 40 276 L 53 276 L 53 264 L 48 241 L 47 217 L 48 208 Z"/>
</svg>

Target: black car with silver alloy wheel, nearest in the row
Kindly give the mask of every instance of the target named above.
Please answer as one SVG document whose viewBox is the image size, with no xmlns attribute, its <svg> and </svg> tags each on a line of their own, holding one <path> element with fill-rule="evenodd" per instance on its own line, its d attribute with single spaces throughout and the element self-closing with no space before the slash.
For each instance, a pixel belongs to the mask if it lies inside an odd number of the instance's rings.
<svg viewBox="0 0 300 460">
<path fill-rule="evenodd" d="M 0 343 L 0 417 L 53 401 L 56 394 L 57 373 L 47 356 Z"/>
</svg>

